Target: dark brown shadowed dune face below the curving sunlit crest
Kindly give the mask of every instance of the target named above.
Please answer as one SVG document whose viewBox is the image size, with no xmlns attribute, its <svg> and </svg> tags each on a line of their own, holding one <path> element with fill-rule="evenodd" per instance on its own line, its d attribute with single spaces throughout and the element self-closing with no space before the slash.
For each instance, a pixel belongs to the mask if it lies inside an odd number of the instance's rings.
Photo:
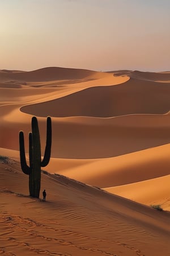
<svg viewBox="0 0 170 256">
<path fill-rule="evenodd" d="M 21 108 L 24 113 L 40 117 L 164 114 L 169 109 L 170 84 L 137 79 L 117 86 L 87 88 L 56 100 Z"/>
</svg>

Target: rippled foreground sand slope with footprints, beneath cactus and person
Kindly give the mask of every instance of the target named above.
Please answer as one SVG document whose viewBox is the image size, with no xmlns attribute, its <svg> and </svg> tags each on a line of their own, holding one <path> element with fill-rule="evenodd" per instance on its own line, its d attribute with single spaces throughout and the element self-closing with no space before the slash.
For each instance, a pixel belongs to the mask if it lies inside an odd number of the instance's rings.
<svg viewBox="0 0 170 256">
<path fill-rule="evenodd" d="M 169 255 L 168 212 L 42 173 L 44 203 L 28 197 L 19 163 L 0 163 L 0 172 L 3 254 Z"/>
</svg>

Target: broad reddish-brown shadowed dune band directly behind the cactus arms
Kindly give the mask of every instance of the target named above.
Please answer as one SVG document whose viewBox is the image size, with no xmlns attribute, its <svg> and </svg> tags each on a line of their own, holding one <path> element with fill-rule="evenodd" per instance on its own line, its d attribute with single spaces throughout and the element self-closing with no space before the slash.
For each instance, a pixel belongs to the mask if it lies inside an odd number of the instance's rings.
<svg viewBox="0 0 170 256">
<path fill-rule="evenodd" d="M 5 108 L 6 109 L 6 108 Z M 18 150 L 19 130 L 28 132 L 31 117 L 20 115 L 16 122 L 6 113 L 8 121 L 0 127 L 1 147 Z M 23 121 L 24 120 L 24 121 Z M 116 118 L 52 118 L 53 158 L 93 159 L 125 155 L 130 152 L 170 143 L 170 115 L 126 115 Z M 46 119 L 39 118 L 42 154 L 46 140 Z"/>
</svg>

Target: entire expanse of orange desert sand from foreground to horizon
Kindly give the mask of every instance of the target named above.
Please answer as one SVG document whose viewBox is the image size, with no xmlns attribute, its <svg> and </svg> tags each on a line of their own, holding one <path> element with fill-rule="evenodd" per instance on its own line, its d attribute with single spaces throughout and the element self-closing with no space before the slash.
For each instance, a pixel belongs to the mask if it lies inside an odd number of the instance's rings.
<svg viewBox="0 0 170 256">
<path fill-rule="evenodd" d="M 0 71 L 0 254 L 170 254 L 170 72 Z M 52 158 L 29 197 L 31 118 Z M 150 205 L 160 205 L 162 212 Z"/>
</svg>

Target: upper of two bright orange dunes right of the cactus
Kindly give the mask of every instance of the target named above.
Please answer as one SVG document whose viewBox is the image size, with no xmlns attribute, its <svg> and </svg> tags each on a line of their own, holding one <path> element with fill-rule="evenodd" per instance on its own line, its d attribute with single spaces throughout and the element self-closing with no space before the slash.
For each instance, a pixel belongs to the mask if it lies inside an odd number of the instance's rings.
<svg viewBox="0 0 170 256">
<path fill-rule="evenodd" d="M 78 161 L 77 166 L 59 170 L 59 160 L 51 159 L 45 168 L 49 172 L 75 178 L 100 188 L 113 187 L 137 181 L 153 179 L 170 174 L 170 144 L 133 152 L 114 158 L 91 159 L 88 162 Z"/>
</svg>

